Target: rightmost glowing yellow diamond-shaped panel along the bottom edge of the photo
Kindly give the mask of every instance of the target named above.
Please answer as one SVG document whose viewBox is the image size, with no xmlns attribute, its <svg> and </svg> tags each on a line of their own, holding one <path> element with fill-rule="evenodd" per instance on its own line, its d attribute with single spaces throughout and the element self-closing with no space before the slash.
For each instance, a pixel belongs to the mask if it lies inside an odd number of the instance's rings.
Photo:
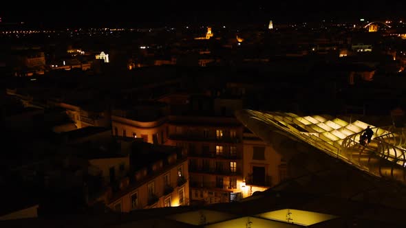
<svg viewBox="0 0 406 228">
<path fill-rule="evenodd" d="M 306 226 L 321 223 L 325 220 L 337 218 L 337 216 L 333 216 L 330 214 L 307 212 L 297 209 L 281 209 L 274 212 L 266 212 L 264 214 L 259 214 L 258 216 L 261 218 L 280 220 L 286 223 L 295 223 Z"/>
</svg>

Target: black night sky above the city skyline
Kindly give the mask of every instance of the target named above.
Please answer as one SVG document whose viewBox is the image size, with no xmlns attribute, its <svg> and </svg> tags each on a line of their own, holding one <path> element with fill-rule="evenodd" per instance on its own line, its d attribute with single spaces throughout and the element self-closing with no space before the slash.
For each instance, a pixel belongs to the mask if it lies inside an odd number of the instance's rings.
<svg viewBox="0 0 406 228">
<path fill-rule="evenodd" d="M 4 22 L 43 25 L 170 25 L 171 23 L 250 23 L 256 21 L 312 21 L 318 19 L 381 19 L 406 15 L 402 1 L 125 1 L 66 0 L 3 3 Z"/>
</svg>

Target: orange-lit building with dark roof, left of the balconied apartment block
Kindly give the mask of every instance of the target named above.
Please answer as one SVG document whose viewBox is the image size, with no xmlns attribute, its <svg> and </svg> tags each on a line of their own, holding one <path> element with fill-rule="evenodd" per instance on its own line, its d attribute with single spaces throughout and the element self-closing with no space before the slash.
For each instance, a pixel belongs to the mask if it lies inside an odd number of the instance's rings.
<svg viewBox="0 0 406 228">
<path fill-rule="evenodd" d="M 188 163 L 178 148 L 136 139 L 131 168 L 132 179 L 123 180 L 122 190 L 107 192 L 106 204 L 114 211 L 189 205 Z"/>
</svg>

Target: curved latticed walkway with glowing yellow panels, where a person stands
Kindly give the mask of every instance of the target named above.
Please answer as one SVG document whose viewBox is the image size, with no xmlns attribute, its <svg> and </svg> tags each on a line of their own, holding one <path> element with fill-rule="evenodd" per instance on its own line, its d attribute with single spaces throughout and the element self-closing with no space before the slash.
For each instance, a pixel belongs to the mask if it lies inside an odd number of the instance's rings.
<svg viewBox="0 0 406 228">
<path fill-rule="evenodd" d="M 299 116 L 294 113 L 243 110 L 237 112 L 236 116 L 248 128 L 261 124 L 283 130 L 351 166 L 375 176 L 406 183 L 405 128 L 376 127 L 357 119 L 346 122 L 330 115 Z M 359 137 L 367 126 L 372 127 L 374 136 L 370 144 L 363 146 L 359 144 Z"/>
</svg>

